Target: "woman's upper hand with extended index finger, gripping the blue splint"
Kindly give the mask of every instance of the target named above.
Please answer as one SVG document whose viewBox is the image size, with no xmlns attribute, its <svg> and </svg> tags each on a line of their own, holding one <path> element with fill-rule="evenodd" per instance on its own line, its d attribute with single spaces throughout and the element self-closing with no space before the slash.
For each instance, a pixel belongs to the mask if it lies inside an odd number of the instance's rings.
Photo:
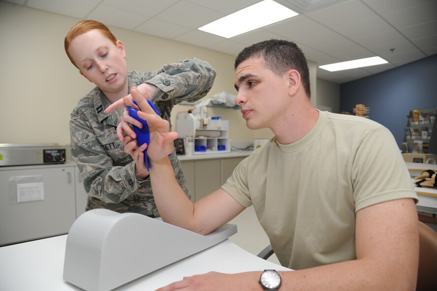
<svg viewBox="0 0 437 291">
<path fill-rule="evenodd" d="M 140 94 L 140 96 L 145 100 L 145 99 L 149 99 L 151 100 L 153 97 L 155 97 L 156 92 L 158 91 L 157 87 L 148 83 L 143 83 L 141 85 L 139 85 L 138 87 L 132 87 L 136 88 L 137 92 Z M 133 102 L 133 98 L 132 98 L 132 89 L 131 89 L 131 93 L 125 97 L 123 97 L 122 99 L 115 101 L 114 103 L 112 103 L 111 105 L 108 106 L 108 108 L 105 109 L 105 113 L 109 113 L 112 110 L 120 107 L 120 106 L 129 106 L 135 109 L 139 109 Z M 134 126 L 138 127 L 138 128 L 143 128 L 143 125 L 136 119 L 134 119 L 133 117 L 130 117 L 129 113 L 127 112 L 127 110 L 123 110 L 122 114 L 121 114 L 121 122 L 120 124 L 117 126 L 117 136 L 121 141 L 125 141 L 125 136 L 123 134 L 123 131 L 126 132 L 126 134 L 128 136 L 130 136 L 132 139 L 136 138 L 136 134 L 135 132 L 130 128 L 130 124 L 133 124 Z"/>
</svg>

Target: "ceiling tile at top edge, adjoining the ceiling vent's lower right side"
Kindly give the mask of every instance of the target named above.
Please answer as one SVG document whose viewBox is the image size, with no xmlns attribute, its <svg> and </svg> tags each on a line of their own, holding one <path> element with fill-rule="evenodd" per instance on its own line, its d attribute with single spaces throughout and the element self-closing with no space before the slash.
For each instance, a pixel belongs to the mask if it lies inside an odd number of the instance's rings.
<svg viewBox="0 0 437 291">
<path fill-rule="evenodd" d="M 376 14 L 361 1 L 350 0 L 308 13 L 307 16 L 323 25 L 333 27 L 375 17 Z"/>
</svg>

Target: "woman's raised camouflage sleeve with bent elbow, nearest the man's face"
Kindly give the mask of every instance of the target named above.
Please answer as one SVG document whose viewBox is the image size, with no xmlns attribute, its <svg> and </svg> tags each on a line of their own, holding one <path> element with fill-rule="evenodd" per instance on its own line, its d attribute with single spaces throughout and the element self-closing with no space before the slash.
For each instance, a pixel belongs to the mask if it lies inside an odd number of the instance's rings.
<svg viewBox="0 0 437 291">
<path fill-rule="evenodd" d="M 173 103 L 194 102 L 208 94 L 216 78 L 216 70 L 208 63 L 196 58 L 163 65 L 150 72 L 146 83 L 158 88 L 154 101 L 173 98 Z"/>
</svg>

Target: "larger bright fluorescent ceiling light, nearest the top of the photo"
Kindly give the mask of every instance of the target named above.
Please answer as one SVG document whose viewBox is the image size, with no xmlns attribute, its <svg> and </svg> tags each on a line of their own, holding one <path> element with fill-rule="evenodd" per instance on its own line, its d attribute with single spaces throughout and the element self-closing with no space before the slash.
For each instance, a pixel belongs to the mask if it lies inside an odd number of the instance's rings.
<svg viewBox="0 0 437 291">
<path fill-rule="evenodd" d="M 296 15 L 298 13 L 273 0 L 264 0 L 199 27 L 198 30 L 230 38 Z"/>
</svg>

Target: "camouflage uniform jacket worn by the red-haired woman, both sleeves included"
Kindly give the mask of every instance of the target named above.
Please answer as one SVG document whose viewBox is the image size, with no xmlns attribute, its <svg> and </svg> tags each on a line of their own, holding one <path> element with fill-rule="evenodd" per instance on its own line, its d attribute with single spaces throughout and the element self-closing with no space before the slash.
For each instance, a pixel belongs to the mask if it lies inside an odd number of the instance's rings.
<svg viewBox="0 0 437 291">
<path fill-rule="evenodd" d="M 132 86 L 142 83 L 158 88 L 152 102 L 160 116 L 169 122 L 173 106 L 206 96 L 215 76 L 216 71 L 210 64 L 195 58 L 164 65 L 149 73 L 129 71 L 127 74 L 129 92 Z M 117 137 L 120 113 L 117 110 L 109 114 L 103 112 L 109 105 L 104 94 L 96 87 L 79 101 L 71 113 L 71 155 L 79 167 L 88 193 L 86 210 L 106 208 L 159 216 L 149 178 L 143 180 L 136 176 L 133 159 L 124 152 L 124 144 Z M 190 197 L 181 163 L 174 150 L 169 159 L 176 179 Z"/>
</svg>

